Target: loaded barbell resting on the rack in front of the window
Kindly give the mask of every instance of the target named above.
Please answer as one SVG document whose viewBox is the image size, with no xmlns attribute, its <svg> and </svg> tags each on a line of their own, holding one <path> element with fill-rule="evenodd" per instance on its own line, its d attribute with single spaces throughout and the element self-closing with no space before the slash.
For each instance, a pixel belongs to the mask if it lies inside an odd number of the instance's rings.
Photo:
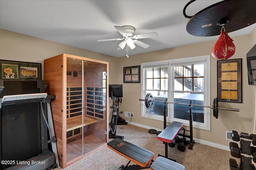
<svg viewBox="0 0 256 170">
<path fill-rule="evenodd" d="M 213 106 L 203 106 L 203 105 L 198 105 L 198 104 L 185 104 L 185 103 L 177 103 L 177 102 L 163 102 L 163 101 L 158 101 L 154 100 L 154 97 L 151 93 L 148 93 L 145 97 L 145 99 L 139 99 L 139 101 L 145 101 L 145 106 L 147 108 L 152 108 L 154 102 L 160 102 L 160 103 L 170 103 L 170 104 L 181 104 L 181 105 L 190 105 L 190 106 L 199 106 L 199 107 L 207 107 L 213 109 L 213 116 L 218 119 L 219 115 L 219 109 L 222 110 L 230 110 L 230 111 L 240 111 L 239 109 L 233 109 L 233 108 L 228 108 L 228 107 L 219 107 L 218 106 L 218 98 L 215 98 L 213 100 Z"/>
</svg>

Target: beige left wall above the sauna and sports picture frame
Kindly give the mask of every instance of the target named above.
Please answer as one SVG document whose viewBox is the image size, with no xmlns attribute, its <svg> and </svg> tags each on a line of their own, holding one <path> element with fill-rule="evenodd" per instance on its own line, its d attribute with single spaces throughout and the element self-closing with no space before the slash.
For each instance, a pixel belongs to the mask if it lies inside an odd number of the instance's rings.
<svg viewBox="0 0 256 170">
<path fill-rule="evenodd" d="M 107 61 L 109 62 L 109 72 L 114 74 L 116 71 L 114 68 L 117 64 L 116 57 L 0 29 L 0 59 L 2 60 L 43 64 L 44 59 L 62 53 Z M 42 73 L 43 69 L 42 65 Z M 43 74 L 42 77 L 44 77 Z M 113 80 L 110 78 L 109 81 Z"/>
</svg>

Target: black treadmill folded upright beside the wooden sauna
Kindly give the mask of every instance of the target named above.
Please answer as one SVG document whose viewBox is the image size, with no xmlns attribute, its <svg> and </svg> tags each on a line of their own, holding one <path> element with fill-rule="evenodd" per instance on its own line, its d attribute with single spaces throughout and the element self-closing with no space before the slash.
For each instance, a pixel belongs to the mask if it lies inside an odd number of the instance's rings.
<svg viewBox="0 0 256 170">
<path fill-rule="evenodd" d="M 50 102 L 43 80 L 0 80 L 0 170 L 59 166 Z"/>
</svg>

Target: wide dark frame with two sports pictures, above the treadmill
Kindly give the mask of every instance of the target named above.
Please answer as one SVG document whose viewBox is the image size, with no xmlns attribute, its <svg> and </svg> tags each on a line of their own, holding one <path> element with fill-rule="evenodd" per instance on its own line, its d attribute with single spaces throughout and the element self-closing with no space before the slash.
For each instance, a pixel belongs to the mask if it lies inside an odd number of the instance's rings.
<svg viewBox="0 0 256 170">
<path fill-rule="evenodd" d="M 0 60 L 0 79 L 41 80 L 41 63 Z"/>
</svg>

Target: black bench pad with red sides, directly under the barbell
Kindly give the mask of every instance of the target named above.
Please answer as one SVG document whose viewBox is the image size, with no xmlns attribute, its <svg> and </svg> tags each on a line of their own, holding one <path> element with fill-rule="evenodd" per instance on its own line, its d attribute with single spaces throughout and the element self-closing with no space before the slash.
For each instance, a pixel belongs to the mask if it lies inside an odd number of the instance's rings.
<svg viewBox="0 0 256 170">
<path fill-rule="evenodd" d="M 183 123 L 173 121 L 167 126 L 158 136 L 157 139 L 166 143 L 172 143 L 175 137 L 178 135 L 180 129 L 183 127 Z"/>
</svg>

